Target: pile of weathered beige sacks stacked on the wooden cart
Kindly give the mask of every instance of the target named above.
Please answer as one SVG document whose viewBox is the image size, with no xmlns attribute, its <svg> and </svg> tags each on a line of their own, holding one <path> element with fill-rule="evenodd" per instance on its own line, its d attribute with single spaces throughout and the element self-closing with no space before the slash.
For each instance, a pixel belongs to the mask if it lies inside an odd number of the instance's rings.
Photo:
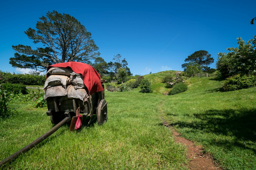
<svg viewBox="0 0 256 170">
<path fill-rule="evenodd" d="M 51 67 L 46 74 L 49 76 L 43 88 L 45 100 L 58 97 L 60 101 L 73 98 L 88 101 L 88 90 L 84 85 L 82 74 L 62 67 Z"/>
</svg>

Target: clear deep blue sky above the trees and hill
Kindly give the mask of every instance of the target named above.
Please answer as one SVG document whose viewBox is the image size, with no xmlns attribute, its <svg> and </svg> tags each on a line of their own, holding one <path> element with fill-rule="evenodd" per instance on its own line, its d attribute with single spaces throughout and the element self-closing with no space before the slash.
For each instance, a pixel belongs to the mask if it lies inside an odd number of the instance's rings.
<svg viewBox="0 0 256 170">
<path fill-rule="evenodd" d="M 1 1 L 0 70 L 13 68 L 12 45 L 36 47 L 24 31 L 35 28 L 40 17 L 56 10 L 76 18 L 110 62 L 120 54 L 133 75 L 165 70 L 182 71 L 188 55 L 206 50 L 214 58 L 256 34 L 256 1 Z"/>
</svg>

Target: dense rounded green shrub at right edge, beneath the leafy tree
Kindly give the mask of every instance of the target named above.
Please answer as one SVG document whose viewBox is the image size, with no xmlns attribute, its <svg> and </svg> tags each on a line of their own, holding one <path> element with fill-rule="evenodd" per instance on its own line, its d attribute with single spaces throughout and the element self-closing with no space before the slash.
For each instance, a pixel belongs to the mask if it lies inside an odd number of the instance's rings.
<svg viewBox="0 0 256 170">
<path fill-rule="evenodd" d="M 227 78 L 222 87 L 223 91 L 239 90 L 256 86 L 256 76 L 237 74 Z"/>
</svg>

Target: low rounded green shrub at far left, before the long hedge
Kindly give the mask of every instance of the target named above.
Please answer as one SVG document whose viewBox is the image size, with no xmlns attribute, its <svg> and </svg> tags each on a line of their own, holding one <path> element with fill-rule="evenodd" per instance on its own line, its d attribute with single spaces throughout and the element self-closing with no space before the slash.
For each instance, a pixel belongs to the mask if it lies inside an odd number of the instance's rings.
<svg viewBox="0 0 256 170">
<path fill-rule="evenodd" d="M 12 83 L 5 83 L 3 84 L 4 90 L 6 90 L 8 93 L 13 94 L 28 94 L 28 90 L 26 89 L 25 85 L 22 84 L 12 84 Z"/>
</svg>

